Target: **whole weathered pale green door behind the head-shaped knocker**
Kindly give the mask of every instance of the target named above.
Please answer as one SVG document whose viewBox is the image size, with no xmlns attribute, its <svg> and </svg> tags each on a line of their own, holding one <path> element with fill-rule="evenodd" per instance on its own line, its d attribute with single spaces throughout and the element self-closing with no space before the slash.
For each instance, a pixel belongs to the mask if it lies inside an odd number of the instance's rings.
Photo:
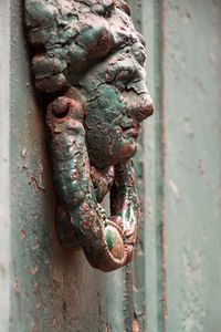
<svg viewBox="0 0 221 332">
<path fill-rule="evenodd" d="M 2 332 L 221 332 L 221 2 L 130 4 L 156 114 L 136 157 L 137 259 L 106 274 L 56 239 L 23 1 L 0 1 Z"/>
</svg>

